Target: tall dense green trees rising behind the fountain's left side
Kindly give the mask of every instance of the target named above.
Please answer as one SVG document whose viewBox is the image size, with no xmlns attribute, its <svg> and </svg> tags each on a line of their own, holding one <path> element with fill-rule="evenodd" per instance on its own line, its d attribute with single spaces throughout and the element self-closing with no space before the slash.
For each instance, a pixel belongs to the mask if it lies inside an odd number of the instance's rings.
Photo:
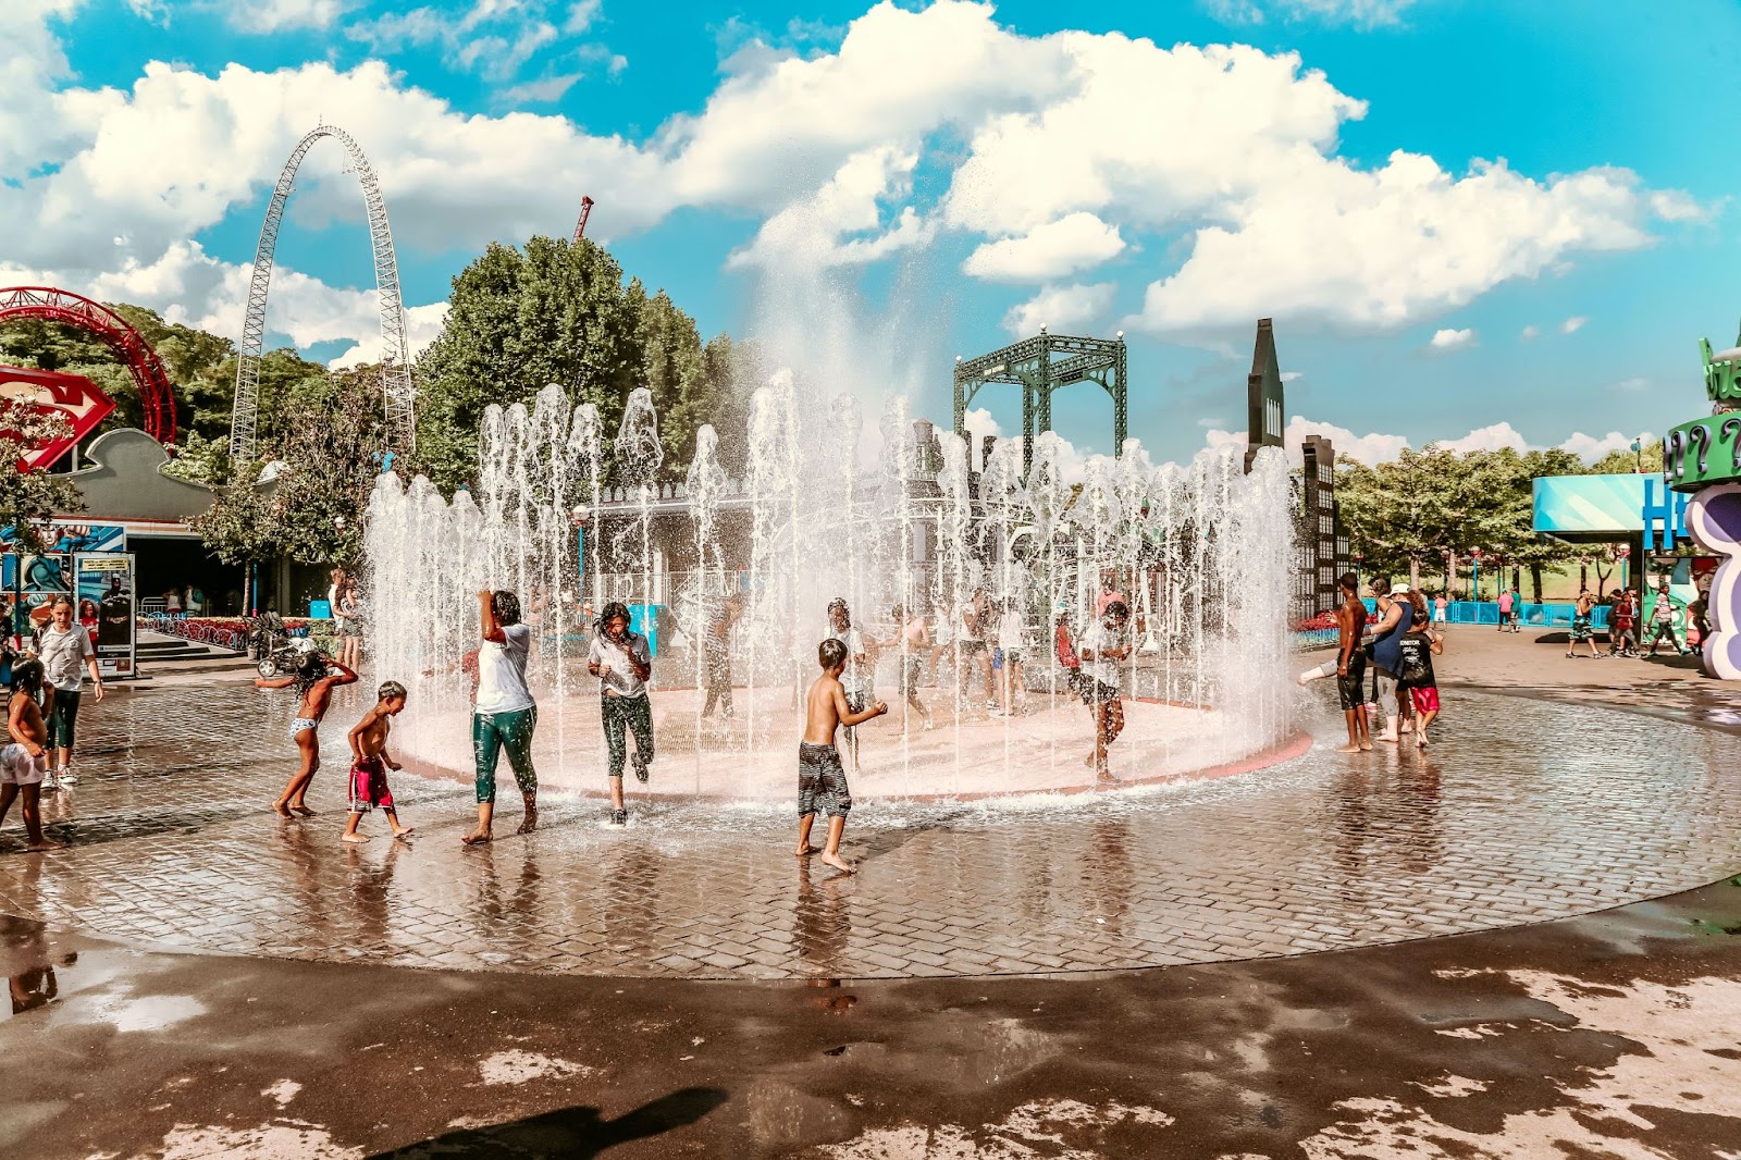
<svg viewBox="0 0 1741 1160">
<path fill-rule="evenodd" d="M 695 432 L 721 423 L 742 394 L 743 357 L 726 338 L 703 343 L 695 320 L 588 240 L 534 237 L 491 244 L 453 280 L 447 320 L 418 361 L 418 449 L 442 488 L 477 474 L 484 409 L 522 402 L 548 383 L 599 408 L 606 432 L 635 387 L 660 413 L 663 474 L 681 479 Z M 724 427 L 721 432 L 724 434 Z"/>
</svg>

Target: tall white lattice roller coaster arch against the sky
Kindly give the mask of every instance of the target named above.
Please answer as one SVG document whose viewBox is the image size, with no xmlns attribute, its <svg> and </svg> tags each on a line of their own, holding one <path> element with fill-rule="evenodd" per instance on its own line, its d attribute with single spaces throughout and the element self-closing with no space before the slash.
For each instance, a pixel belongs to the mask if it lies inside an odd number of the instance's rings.
<svg viewBox="0 0 1741 1160">
<path fill-rule="evenodd" d="M 393 256 L 393 232 L 387 223 L 387 200 L 374 178 L 369 158 L 355 138 L 338 125 L 317 125 L 296 143 L 279 185 L 266 206 L 266 221 L 259 226 L 259 244 L 254 247 L 254 280 L 247 289 L 247 319 L 242 322 L 242 350 L 235 368 L 235 409 L 230 415 L 230 462 L 237 467 L 251 463 L 258 451 L 254 425 L 259 418 L 259 355 L 266 338 L 266 293 L 272 287 L 272 260 L 279 244 L 279 225 L 284 206 L 291 200 L 296 171 L 303 157 L 320 138 L 333 138 L 345 146 L 362 202 L 369 211 L 369 240 L 374 247 L 374 287 L 381 305 L 381 387 L 387 418 L 387 444 L 392 451 L 411 451 L 416 446 L 416 395 L 411 385 L 411 357 L 406 345 L 406 305 L 399 293 L 399 260 Z"/>
</svg>

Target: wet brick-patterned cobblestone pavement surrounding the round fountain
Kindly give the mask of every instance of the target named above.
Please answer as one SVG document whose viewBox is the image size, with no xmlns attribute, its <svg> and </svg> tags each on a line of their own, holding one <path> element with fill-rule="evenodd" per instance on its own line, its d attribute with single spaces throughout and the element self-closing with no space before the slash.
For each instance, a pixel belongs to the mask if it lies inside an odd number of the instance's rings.
<svg viewBox="0 0 1741 1160">
<path fill-rule="evenodd" d="M 1313 702 L 1316 704 L 1316 702 Z M 790 853 L 787 803 L 545 803 L 465 850 L 468 787 L 400 775 L 409 843 L 339 843 L 343 728 L 284 822 L 287 698 L 139 690 L 82 721 L 70 848 L 0 831 L 0 909 L 211 951 L 658 977 L 1036 974 L 1260 958 L 1534 923 L 1741 869 L 1741 738 L 1459 693 L 1431 751 L 996 805 L 864 799 L 853 878 Z M 656 773 L 655 773 L 656 777 Z M 508 794 L 512 798 L 512 794 Z M 517 806 L 505 806 L 507 827 Z"/>
</svg>

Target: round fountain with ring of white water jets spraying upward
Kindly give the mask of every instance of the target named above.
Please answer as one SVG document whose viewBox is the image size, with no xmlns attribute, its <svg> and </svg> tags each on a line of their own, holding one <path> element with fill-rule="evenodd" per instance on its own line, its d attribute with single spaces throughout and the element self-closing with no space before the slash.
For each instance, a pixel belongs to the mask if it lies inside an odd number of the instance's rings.
<svg viewBox="0 0 1741 1160">
<path fill-rule="evenodd" d="M 667 792 L 787 798 L 801 732 L 799 691 L 817 676 L 825 604 L 844 597 L 876 655 L 874 697 L 893 716 L 877 728 L 864 775 L 876 792 L 978 796 L 1092 782 L 1086 709 L 1053 664 L 1062 617 L 1081 632 L 1111 587 L 1135 613 L 1123 665 L 1130 732 L 1114 772 L 1147 780 L 1267 751 L 1290 735 L 1287 606 L 1290 528 L 1283 456 L 1252 474 L 1233 453 L 1151 467 L 1135 441 L 1118 458 L 1076 453 L 1043 434 L 1024 470 L 1020 441 L 999 441 L 973 470 L 970 446 L 909 422 L 897 399 L 881 439 L 858 404 L 810 397 L 790 374 L 756 392 L 743 479 L 719 465 L 703 427 L 681 495 L 653 484 L 662 462 L 646 390 L 622 428 L 561 388 L 536 406 L 491 408 L 479 486 L 446 500 L 428 481 L 383 475 L 369 509 L 373 644 L 369 678 L 411 686 L 400 733 L 418 759 L 470 761 L 461 657 L 477 644 L 477 590 L 521 594 L 541 646 L 538 754 L 550 786 L 595 787 L 597 681 L 585 672 L 580 599 L 622 594 L 665 604 L 655 669 L 660 784 Z M 870 448 L 867 444 L 874 442 Z M 588 516 L 585 556 L 576 516 Z M 689 566 L 670 557 L 688 552 Z M 731 634 L 736 714 L 703 721 L 705 658 L 695 641 L 726 596 L 742 599 Z M 895 639 L 897 606 L 954 629 L 982 594 L 1013 610 L 1025 657 L 1025 705 L 987 721 L 977 660 L 951 639 L 938 658 Z M 987 648 L 1003 617 L 984 622 Z M 959 634 L 954 634 L 956 637 Z M 902 674 L 926 669 L 921 697 L 938 728 L 900 711 Z M 958 697 L 958 676 L 971 695 Z M 677 691 L 681 690 L 681 691 Z M 893 728 L 893 732 L 891 732 Z"/>
</svg>

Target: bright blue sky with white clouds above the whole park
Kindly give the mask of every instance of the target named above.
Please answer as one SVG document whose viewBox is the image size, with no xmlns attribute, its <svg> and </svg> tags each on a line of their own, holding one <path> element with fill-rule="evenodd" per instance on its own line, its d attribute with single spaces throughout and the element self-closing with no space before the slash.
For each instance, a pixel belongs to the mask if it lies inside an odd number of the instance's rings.
<svg viewBox="0 0 1741 1160">
<path fill-rule="evenodd" d="M 272 181 L 326 117 L 381 176 L 425 340 L 484 242 L 592 193 L 705 333 L 870 401 L 947 416 L 954 354 L 1125 329 L 1133 434 L 1187 456 L 1241 427 L 1273 315 L 1297 430 L 1368 458 L 1612 446 L 1697 413 L 1694 340 L 1741 315 L 1741 162 L 1708 129 L 1738 40 L 1727 0 L 24 0 L 0 277 L 239 333 Z M 369 354 L 360 218 L 317 150 L 277 341 Z M 1107 415 L 1059 397 L 1086 449 Z"/>
</svg>

